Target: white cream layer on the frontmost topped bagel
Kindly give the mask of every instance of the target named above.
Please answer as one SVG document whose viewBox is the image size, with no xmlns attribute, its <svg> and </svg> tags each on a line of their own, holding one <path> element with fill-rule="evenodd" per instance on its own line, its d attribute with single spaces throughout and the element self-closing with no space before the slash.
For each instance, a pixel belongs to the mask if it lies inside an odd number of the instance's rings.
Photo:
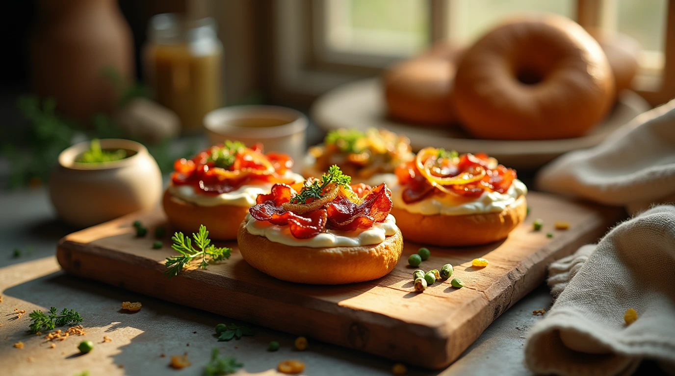
<svg viewBox="0 0 675 376">
<path fill-rule="evenodd" d="M 375 223 L 371 228 L 358 228 L 353 231 L 327 230 L 309 239 L 296 239 L 290 232 L 289 226 L 279 226 L 269 222 L 256 220 L 246 214 L 246 230 L 253 235 L 259 235 L 284 245 L 292 247 L 360 247 L 361 245 L 375 245 L 382 243 L 385 237 L 396 234 L 396 218 L 389 214 L 387 220 Z"/>
</svg>

